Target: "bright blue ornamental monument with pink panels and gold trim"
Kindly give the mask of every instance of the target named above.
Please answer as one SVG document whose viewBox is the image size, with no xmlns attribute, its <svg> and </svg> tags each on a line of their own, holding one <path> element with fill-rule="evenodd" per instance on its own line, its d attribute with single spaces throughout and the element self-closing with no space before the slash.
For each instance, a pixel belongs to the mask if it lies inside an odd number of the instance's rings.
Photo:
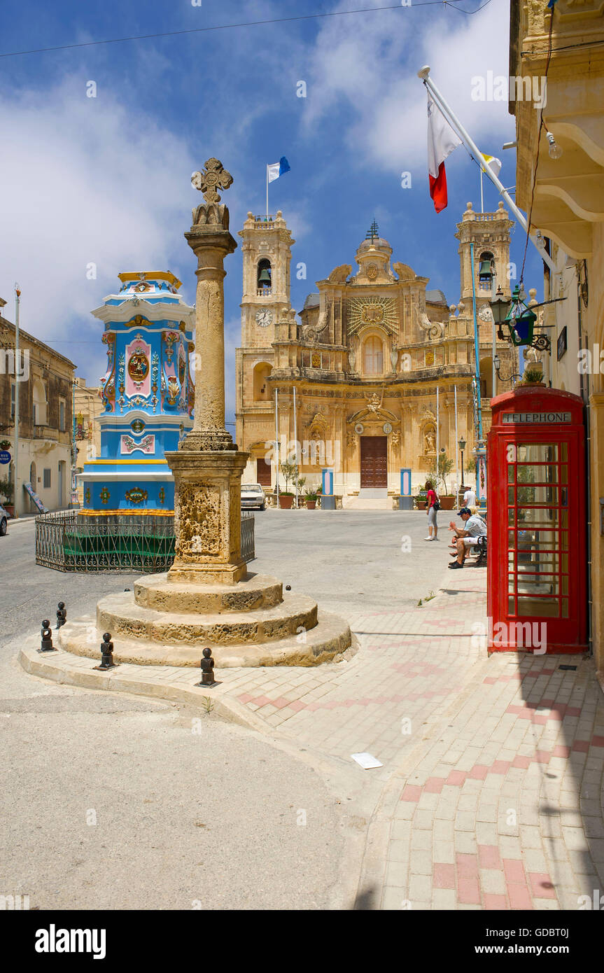
<svg viewBox="0 0 604 973">
<path fill-rule="evenodd" d="M 195 308 L 168 270 L 121 273 L 119 294 L 92 313 L 105 325 L 101 453 L 84 467 L 85 517 L 173 516 L 174 479 L 166 451 L 193 427 Z"/>
</svg>

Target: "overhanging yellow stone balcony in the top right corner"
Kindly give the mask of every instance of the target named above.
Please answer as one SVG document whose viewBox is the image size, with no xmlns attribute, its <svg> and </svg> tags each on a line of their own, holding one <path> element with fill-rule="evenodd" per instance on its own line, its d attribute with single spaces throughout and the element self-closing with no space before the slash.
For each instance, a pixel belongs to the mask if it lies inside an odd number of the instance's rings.
<svg viewBox="0 0 604 973">
<path fill-rule="evenodd" d="M 551 11 L 545 4 L 539 9 L 518 5 L 512 18 L 510 74 L 515 75 L 515 90 L 511 85 L 510 112 L 515 115 L 518 143 L 516 201 L 529 210 L 534 180 L 533 225 L 567 254 L 584 259 L 593 251 L 594 224 L 604 220 L 604 13 L 597 0 L 581 5 L 558 0 L 555 11 L 541 137 L 535 94 L 543 95 Z M 556 148 L 561 155 L 551 158 Z"/>
</svg>

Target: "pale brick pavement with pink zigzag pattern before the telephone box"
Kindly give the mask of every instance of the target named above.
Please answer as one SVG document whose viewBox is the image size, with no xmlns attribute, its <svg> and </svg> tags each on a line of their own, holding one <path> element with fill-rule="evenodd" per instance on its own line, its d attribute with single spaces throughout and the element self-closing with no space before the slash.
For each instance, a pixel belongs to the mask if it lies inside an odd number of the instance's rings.
<svg viewBox="0 0 604 973">
<path fill-rule="evenodd" d="M 360 884 L 373 908 L 578 909 L 580 896 L 604 889 L 604 705 L 593 665 L 489 658 L 485 570 L 454 579 L 413 610 L 349 615 L 361 649 L 348 662 L 221 669 L 213 694 L 267 733 L 347 762 L 368 750 L 383 763 L 359 769 L 384 785 Z M 121 670 L 164 686 L 199 679 L 175 667 Z"/>
</svg>

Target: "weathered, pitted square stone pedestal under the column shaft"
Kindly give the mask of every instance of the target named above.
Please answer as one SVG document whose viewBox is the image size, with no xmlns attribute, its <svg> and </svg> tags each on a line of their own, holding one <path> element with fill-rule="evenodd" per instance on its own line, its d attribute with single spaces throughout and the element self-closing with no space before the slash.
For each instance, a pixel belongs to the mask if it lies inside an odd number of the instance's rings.
<svg viewBox="0 0 604 973">
<path fill-rule="evenodd" d="M 241 474 L 248 454 L 234 450 L 166 452 L 174 474 L 176 557 L 168 582 L 233 585 L 241 559 Z"/>
</svg>

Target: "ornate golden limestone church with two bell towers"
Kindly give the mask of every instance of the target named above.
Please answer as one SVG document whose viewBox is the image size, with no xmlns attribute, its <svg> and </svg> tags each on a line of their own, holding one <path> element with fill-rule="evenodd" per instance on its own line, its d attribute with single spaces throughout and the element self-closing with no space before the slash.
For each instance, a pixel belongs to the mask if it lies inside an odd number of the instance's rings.
<svg viewBox="0 0 604 973">
<path fill-rule="evenodd" d="M 329 467 L 344 506 L 381 497 L 386 507 L 388 496 L 400 493 L 402 468 L 411 469 L 415 492 L 437 450 L 445 450 L 454 460 L 450 490 L 457 440 L 466 440 L 466 457 L 476 445 L 470 244 L 486 434 L 493 394 L 489 300 L 497 285 L 510 298 L 511 227 L 503 203 L 494 213 L 476 213 L 468 203 L 455 234 L 461 297 L 447 306 L 442 291 L 426 289 L 427 277 L 392 263 L 392 248 L 373 224 L 356 250 L 355 269 L 341 264 L 317 281 L 297 316 L 290 301 L 296 241 L 281 212 L 267 219 L 248 213 L 239 233 L 243 300 L 236 350 L 236 437 L 250 453 L 243 482 L 274 489 L 277 463 L 297 460 L 306 488 L 319 486 L 321 469 Z M 510 345 L 497 342 L 496 350 L 501 375 L 511 378 L 517 364 Z M 510 380 L 498 380 L 495 394 L 510 387 Z"/>
</svg>

